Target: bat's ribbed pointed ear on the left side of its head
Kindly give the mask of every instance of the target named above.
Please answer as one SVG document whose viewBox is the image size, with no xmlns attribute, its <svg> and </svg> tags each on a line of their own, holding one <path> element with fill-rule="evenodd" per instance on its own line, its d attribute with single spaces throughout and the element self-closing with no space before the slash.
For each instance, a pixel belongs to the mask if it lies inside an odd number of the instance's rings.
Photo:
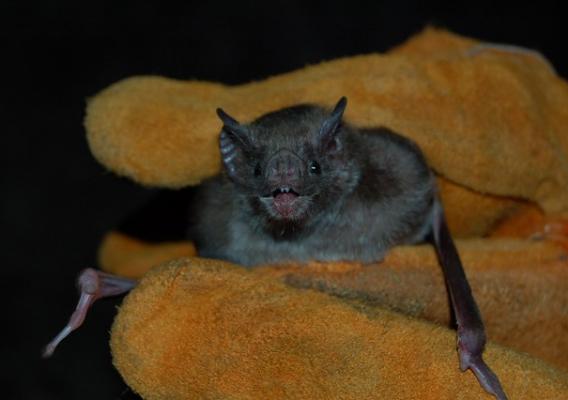
<svg viewBox="0 0 568 400">
<path fill-rule="evenodd" d="M 223 121 L 223 130 L 219 137 L 221 158 L 229 177 L 237 179 L 239 163 L 243 161 L 242 154 L 251 148 L 249 132 L 246 126 L 239 124 L 221 108 L 217 109 L 217 115 Z"/>
</svg>

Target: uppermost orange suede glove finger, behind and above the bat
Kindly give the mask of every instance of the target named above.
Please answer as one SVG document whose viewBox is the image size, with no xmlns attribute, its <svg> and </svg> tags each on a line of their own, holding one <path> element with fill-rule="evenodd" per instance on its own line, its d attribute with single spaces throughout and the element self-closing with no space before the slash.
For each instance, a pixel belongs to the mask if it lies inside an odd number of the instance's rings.
<svg viewBox="0 0 568 400">
<path fill-rule="evenodd" d="M 449 181 L 568 211 L 566 82 L 534 54 L 444 31 L 427 30 L 386 55 L 240 86 L 129 78 L 93 98 L 85 122 L 104 165 L 143 184 L 182 187 L 219 171 L 217 107 L 249 121 L 301 102 L 331 106 L 343 95 L 347 120 L 412 138 Z"/>
</svg>

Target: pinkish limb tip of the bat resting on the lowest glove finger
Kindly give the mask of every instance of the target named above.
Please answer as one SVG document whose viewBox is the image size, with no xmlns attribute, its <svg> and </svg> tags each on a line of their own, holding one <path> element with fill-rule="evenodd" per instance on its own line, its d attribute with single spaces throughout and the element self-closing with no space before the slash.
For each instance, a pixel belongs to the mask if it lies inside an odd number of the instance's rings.
<svg viewBox="0 0 568 400">
<path fill-rule="evenodd" d="M 464 334 L 458 330 L 458 352 L 461 370 L 471 369 L 483 389 L 498 400 L 507 400 L 507 395 L 501 387 L 499 378 L 483 361 L 482 353 L 484 347 L 485 336 L 483 333 L 475 334 L 469 332 L 469 334 Z"/>
</svg>

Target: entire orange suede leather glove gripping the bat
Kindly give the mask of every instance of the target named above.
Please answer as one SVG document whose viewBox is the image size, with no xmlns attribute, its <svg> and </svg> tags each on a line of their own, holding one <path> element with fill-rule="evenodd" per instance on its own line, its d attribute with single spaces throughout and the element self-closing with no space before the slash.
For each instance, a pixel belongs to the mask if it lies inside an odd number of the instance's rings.
<svg viewBox="0 0 568 400">
<path fill-rule="evenodd" d="M 486 359 L 510 398 L 568 398 L 568 86 L 537 55 L 428 29 L 240 86 L 133 77 L 91 99 L 85 123 L 106 167 L 178 188 L 219 172 L 216 107 L 248 121 L 343 95 L 347 120 L 411 137 L 438 175 L 488 337 L 507 346 Z M 100 250 L 129 277 L 181 256 L 195 248 L 118 233 Z M 459 372 L 448 322 L 433 252 L 414 246 L 373 265 L 178 260 L 127 297 L 111 340 L 148 399 L 490 398 Z"/>
</svg>

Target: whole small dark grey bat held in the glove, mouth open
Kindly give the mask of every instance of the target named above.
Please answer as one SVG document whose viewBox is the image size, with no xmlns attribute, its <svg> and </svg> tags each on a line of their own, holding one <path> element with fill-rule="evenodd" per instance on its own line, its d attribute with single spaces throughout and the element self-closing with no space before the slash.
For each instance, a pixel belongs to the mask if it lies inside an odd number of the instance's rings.
<svg viewBox="0 0 568 400">
<path fill-rule="evenodd" d="M 201 256 L 246 266 L 380 261 L 392 246 L 430 241 L 457 323 L 460 367 L 506 399 L 482 359 L 483 322 L 422 152 L 386 128 L 351 126 L 342 119 L 346 105 L 345 97 L 331 112 L 297 105 L 249 124 L 218 109 L 224 173 L 199 188 L 190 238 Z M 94 300 L 135 285 L 92 269 L 81 279 L 80 304 L 48 354 Z"/>
</svg>

